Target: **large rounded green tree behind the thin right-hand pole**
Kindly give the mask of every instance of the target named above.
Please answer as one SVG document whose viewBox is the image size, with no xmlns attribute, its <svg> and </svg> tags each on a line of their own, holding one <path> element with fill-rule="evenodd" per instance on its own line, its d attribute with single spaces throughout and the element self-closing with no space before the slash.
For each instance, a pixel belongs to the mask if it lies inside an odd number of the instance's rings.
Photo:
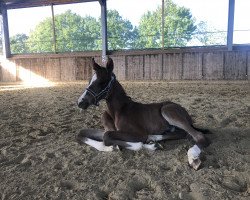
<svg viewBox="0 0 250 200">
<path fill-rule="evenodd" d="M 196 30 L 195 19 L 189 9 L 180 7 L 172 2 L 165 1 L 164 47 L 186 46 Z M 139 23 L 138 47 L 162 47 L 162 9 L 159 6 L 155 11 L 144 14 Z"/>
</svg>

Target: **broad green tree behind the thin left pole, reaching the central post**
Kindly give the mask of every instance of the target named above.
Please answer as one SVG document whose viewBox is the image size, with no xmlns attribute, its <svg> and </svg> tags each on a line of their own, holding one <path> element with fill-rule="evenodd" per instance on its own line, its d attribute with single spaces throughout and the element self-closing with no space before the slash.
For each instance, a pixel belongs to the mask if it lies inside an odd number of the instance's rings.
<svg viewBox="0 0 250 200">
<path fill-rule="evenodd" d="M 70 10 L 55 16 L 56 52 L 99 49 L 101 26 L 93 17 Z M 28 39 L 30 52 L 54 52 L 52 19 L 40 22 Z"/>
</svg>

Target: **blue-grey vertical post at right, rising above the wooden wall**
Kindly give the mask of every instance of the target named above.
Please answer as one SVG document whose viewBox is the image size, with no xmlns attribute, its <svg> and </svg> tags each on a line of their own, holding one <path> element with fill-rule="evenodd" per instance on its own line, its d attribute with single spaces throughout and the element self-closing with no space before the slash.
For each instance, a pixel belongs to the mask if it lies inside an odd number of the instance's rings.
<svg viewBox="0 0 250 200">
<path fill-rule="evenodd" d="M 234 31 L 234 7 L 235 0 L 228 0 L 228 24 L 227 24 L 227 48 L 228 51 L 233 50 L 233 31 Z"/>
</svg>

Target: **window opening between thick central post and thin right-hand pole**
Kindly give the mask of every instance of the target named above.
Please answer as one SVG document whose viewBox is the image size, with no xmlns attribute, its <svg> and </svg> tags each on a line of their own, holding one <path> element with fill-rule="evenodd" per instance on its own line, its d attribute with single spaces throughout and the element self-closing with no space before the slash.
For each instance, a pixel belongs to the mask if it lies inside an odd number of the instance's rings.
<svg viewBox="0 0 250 200">
<path fill-rule="evenodd" d="M 161 9 L 162 0 L 109 0 L 107 1 L 108 48 L 143 49 L 160 47 L 161 28 L 151 29 L 154 20 L 147 14 Z M 152 16 L 154 17 L 154 16 Z M 161 19 L 159 18 L 161 21 Z M 145 29 L 145 26 L 148 28 Z M 160 27 L 157 24 L 157 27 Z"/>
</svg>

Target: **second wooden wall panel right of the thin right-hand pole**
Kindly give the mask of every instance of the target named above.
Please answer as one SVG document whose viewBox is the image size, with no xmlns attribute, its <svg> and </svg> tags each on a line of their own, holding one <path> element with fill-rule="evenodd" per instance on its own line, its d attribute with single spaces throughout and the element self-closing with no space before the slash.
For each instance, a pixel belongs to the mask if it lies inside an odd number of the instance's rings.
<svg viewBox="0 0 250 200">
<path fill-rule="evenodd" d="M 202 79 L 202 53 L 184 53 L 182 67 L 182 79 Z"/>
</svg>

